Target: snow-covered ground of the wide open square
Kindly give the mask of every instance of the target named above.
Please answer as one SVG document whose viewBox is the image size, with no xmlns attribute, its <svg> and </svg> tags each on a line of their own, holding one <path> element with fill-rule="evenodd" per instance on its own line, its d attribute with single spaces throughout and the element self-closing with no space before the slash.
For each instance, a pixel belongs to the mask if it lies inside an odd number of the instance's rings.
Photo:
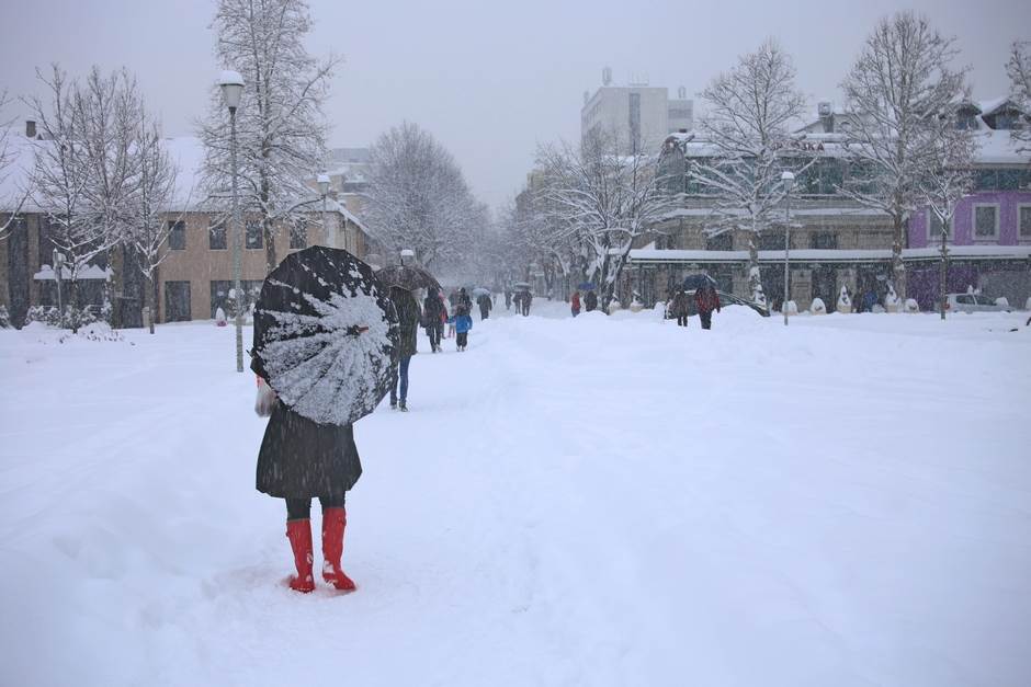
<svg viewBox="0 0 1031 687">
<path fill-rule="evenodd" d="M 356 425 L 343 596 L 230 329 L 0 331 L 0 684 L 1031 684 L 1027 313 L 565 316 Z"/>
</svg>

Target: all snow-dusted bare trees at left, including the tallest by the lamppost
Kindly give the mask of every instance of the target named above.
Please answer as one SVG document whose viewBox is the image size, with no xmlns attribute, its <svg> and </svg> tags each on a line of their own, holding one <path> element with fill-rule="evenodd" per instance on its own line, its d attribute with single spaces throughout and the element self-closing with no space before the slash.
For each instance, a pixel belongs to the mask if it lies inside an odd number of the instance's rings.
<svg viewBox="0 0 1031 687">
<path fill-rule="evenodd" d="M 311 20 L 303 0 L 220 0 L 212 27 L 218 60 L 241 72 L 246 83 L 237 110 L 240 206 L 261 224 L 271 271 L 277 264 L 275 225 L 293 221 L 317 202 L 309 183 L 322 169 L 322 105 L 340 60 L 318 61 L 305 50 Z M 55 65 L 37 76 L 44 95 L 24 100 L 37 126 L 31 174 L 19 190 L 24 195 L 4 199 L 14 211 L 0 226 L 0 240 L 26 199 L 43 213 L 46 237 L 64 262 L 54 272 L 58 293 L 68 283 L 72 329 L 82 312 L 82 271 L 106 264 L 115 250 L 123 251 L 126 270 L 136 266 L 146 279 L 146 305 L 154 312 L 157 268 L 168 254 L 177 213 L 229 209 L 228 112 L 218 89 L 212 88 L 208 114 L 197 123 L 206 153 L 200 187 L 177 192 L 175 161 L 132 73 L 93 68 L 79 80 Z M 0 112 L 7 100 L 0 95 Z M 13 149 L 9 131 L 0 138 L 0 182 L 25 152 Z M 183 171 L 192 179 L 195 170 Z"/>
</svg>

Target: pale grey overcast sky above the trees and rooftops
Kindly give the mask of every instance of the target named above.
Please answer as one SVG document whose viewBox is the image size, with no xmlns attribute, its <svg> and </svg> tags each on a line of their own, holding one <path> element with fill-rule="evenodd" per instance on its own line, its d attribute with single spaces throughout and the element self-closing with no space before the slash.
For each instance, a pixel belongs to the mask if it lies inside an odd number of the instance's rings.
<svg viewBox="0 0 1031 687">
<path fill-rule="evenodd" d="M 222 68 L 208 28 L 214 0 L 4 2 L 0 84 L 37 89 L 53 61 L 72 75 L 128 66 L 169 135 L 189 135 Z M 1031 39 L 1028 0 L 311 0 L 315 55 L 347 61 L 327 108 L 333 146 L 366 146 L 403 119 L 430 130 L 481 199 L 518 192 L 539 141 L 575 139 L 585 90 L 602 67 L 618 83 L 646 75 L 692 96 L 737 55 L 773 36 L 794 57 L 798 87 L 835 99 L 837 83 L 877 18 L 899 8 L 954 35 L 976 98 L 1005 94 L 1009 44 Z M 23 115 L 23 112 L 5 113 Z"/>
</svg>

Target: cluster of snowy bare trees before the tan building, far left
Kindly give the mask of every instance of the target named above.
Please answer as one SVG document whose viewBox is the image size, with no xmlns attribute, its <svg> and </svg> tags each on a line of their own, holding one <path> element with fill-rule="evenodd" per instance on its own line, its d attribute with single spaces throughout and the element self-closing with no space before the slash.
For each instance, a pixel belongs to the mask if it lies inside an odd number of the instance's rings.
<svg viewBox="0 0 1031 687">
<path fill-rule="evenodd" d="M 117 247 L 129 249 L 126 266 L 149 280 L 152 309 L 177 179 L 160 126 L 126 70 L 104 75 L 94 67 L 79 81 L 55 65 L 37 76 L 45 95 L 25 101 L 38 135 L 25 191 L 46 217 L 54 262 L 64 265 L 53 267 L 58 293 L 68 282 L 68 324 L 75 330 L 80 322 L 81 272 L 106 264 Z"/>
</svg>

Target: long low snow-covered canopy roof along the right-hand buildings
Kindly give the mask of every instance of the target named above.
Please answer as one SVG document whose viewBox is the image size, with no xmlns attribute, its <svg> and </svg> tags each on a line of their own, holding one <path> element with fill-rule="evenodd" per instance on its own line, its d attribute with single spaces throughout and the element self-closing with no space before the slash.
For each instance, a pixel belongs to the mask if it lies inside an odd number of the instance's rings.
<svg viewBox="0 0 1031 687">
<path fill-rule="evenodd" d="M 903 249 L 903 259 L 938 260 L 938 248 Z M 976 260 L 1028 260 L 1031 245 L 953 245 L 949 256 Z M 792 250 L 789 262 L 882 262 L 892 259 L 891 249 L 800 249 Z M 748 260 L 748 251 L 634 249 L 630 262 L 653 263 L 738 263 Z M 784 262 L 784 251 L 759 251 L 759 262 Z"/>
</svg>

